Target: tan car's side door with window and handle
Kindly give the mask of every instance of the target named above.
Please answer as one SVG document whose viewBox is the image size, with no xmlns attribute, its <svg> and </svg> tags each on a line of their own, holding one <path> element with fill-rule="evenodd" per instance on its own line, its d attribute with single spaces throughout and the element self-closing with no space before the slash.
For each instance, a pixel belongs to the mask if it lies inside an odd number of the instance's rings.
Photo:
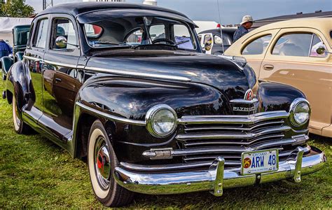
<svg viewBox="0 0 332 210">
<path fill-rule="evenodd" d="M 317 29 L 282 29 L 265 55 L 259 78 L 285 83 L 305 93 L 312 107 L 310 132 L 331 125 L 331 54 L 317 55 L 317 45 L 331 52 Z"/>
</svg>

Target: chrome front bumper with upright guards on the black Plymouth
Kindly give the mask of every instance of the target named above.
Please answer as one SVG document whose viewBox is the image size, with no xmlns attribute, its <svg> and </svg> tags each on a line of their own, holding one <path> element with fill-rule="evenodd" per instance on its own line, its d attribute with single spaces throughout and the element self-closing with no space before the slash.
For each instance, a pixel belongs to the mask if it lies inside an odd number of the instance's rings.
<svg viewBox="0 0 332 210">
<path fill-rule="evenodd" d="M 296 159 L 279 162 L 277 172 L 242 176 L 240 169 L 224 169 L 225 160 L 219 157 L 208 170 L 151 173 L 116 167 L 114 177 L 120 186 L 137 193 L 167 195 L 210 190 L 212 194 L 221 196 L 223 188 L 253 186 L 282 179 L 298 183 L 301 175 L 317 172 L 325 162 L 324 153 L 312 146 L 308 155 L 303 156 L 303 149 L 298 148 Z"/>
</svg>

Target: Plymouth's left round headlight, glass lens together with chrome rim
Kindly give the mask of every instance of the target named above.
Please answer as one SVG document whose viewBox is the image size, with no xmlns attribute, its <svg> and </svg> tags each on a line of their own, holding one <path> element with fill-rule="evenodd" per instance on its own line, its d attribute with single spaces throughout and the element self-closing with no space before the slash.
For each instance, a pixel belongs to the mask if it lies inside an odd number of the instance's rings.
<svg viewBox="0 0 332 210">
<path fill-rule="evenodd" d="M 167 137 L 177 128 L 177 113 L 168 105 L 153 106 L 146 113 L 146 129 L 153 137 Z"/>
</svg>

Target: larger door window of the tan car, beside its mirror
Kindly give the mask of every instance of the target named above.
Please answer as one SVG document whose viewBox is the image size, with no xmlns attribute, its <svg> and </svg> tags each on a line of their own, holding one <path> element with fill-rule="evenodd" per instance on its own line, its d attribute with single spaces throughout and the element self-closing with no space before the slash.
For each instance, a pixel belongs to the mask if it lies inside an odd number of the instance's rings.
<svg viewBox="0 0 332 210">
<path fill-rule="evenodd" d="M 272 55 L 307 57 L 311 41 L 312 34 L 284 34 L 273 47 Z"/>
</svg>

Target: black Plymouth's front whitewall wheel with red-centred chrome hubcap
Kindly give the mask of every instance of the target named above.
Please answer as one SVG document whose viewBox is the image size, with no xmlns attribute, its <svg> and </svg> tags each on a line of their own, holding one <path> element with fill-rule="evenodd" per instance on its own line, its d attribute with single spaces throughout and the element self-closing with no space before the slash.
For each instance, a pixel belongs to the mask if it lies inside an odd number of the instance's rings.
<svg viewBox="0 0 332 210">
<path fill-rule="evenodd" d="M 134 193 L 116 183 L 113 178 L 118 160 L 104 125 L 96 120 L 90 129 L 88 141 L 88 168 L 93 192 L 106 207 L 130 204 Z"/>
</svg>

